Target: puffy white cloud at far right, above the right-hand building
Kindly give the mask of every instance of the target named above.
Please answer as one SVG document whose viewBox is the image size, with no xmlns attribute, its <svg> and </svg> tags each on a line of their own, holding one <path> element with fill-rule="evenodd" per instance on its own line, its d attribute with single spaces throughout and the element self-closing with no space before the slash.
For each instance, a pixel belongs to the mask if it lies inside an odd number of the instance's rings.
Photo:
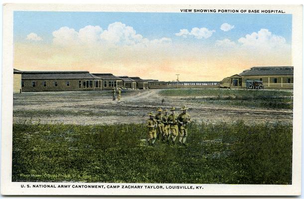
<svg viewBox="0 0 304 199">
<path fill-rule="evenodd" d="M 243 46 L 252 47 L 283 47 L 286 46 L 286 39 L 282 36 L 272 34 L 268 29 L 261 29 L 258 32 L 247 34 L 245 37 L 238 39 Z"/>
</svg>

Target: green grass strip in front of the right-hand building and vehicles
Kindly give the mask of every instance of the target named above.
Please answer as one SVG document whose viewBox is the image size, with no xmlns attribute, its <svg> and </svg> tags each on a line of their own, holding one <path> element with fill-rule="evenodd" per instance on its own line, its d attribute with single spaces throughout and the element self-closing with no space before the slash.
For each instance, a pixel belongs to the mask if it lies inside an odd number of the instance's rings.
<svg viewBox="0 0 304 199">
<path fill-rule="evenodd" d="M 275 90 L 229 89 L 171 89 L 160 91 L 164 97 L 181 97 L 181 100 L 202 104 L 293 109 L 293 93 Z"/>
</svg>

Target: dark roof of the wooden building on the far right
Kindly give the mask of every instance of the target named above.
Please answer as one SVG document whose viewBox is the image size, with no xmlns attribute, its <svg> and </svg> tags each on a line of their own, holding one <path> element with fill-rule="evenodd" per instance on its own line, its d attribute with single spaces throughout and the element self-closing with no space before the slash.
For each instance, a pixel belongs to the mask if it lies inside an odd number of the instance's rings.
<svg viewBox="0 0 304 199">
<path fill-rule="evenodd" d="M 294 75 L 294 67 L 293 66 L 272 66 L 272 67 L 252 67 L 250 70 L 245 70 L 239 75 L 241 76 L 251 76 L 251 75 Z"/>
</svg>

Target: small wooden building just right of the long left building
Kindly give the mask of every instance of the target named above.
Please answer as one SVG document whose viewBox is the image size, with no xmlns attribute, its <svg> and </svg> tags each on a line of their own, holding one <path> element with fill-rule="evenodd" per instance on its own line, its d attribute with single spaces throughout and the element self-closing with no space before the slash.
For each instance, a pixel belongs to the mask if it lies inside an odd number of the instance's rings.
<svg viewBox="0 0 304 199">
<path fill-rule="evenodd" d="M 111 73 L 92 73 L 102 79 L 102 90 L 112 90 L 122 87 L 122 79 Z"/>
</svg>

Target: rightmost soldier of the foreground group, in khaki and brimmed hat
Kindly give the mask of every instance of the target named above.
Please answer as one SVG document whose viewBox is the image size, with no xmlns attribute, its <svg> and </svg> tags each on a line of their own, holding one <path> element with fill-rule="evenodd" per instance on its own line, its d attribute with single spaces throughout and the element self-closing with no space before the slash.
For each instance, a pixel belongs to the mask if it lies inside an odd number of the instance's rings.
<svg viewBox="0 0 304 199">
<path fill-rule="evenodd" d="M 177 122 L 178 122 L 178 126 L 179 126 L 179 136 L 180 136 L 180 140 L 179 140 L 179 144 L 180 145 L 184 145 L 186 146 L 185 142 L 187 139 L 187 128 L 188 128 L 188 124 L 191 122 L 190 119 L 190 115 L 187 113 L 188 107 L 187 106 L 183 106 L 181 108 L 181 110 L 183 110 L 183 112 L 178 116 L 177 118 Z"/>
</svg>

